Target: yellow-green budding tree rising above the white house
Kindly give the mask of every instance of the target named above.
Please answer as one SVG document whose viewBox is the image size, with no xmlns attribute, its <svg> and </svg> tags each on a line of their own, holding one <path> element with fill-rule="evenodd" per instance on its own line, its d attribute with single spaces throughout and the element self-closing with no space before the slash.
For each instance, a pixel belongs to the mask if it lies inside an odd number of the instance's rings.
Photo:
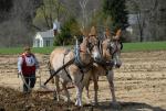
<svg viewBox="0 0 166 111">
<path fill-rule="evenodd" d="M 60 21 L 63 16 L 66 16 L 66 9 L 60 0 L 43 0 L 33 24 L 41 30 L 52 29 L 54 20 Z"/>
</svg>

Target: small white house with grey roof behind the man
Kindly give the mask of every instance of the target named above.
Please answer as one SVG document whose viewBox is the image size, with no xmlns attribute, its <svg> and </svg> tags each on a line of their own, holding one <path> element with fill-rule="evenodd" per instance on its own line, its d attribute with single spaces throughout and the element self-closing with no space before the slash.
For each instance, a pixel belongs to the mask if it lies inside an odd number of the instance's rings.
<svg viewBox="0 0 166 111">
<path fill-rule="evenodd" d="M 53 46 L 54 30 L 37 32 L 33 38 L 33 47 Z"/>
</svg>

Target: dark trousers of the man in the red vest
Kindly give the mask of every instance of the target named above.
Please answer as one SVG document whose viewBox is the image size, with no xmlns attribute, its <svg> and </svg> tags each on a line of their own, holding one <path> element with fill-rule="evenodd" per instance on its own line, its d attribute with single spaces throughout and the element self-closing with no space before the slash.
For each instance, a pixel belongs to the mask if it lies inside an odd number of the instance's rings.
<svg viewBox="0 0 166 111">
<path fill-rule="evenodd" d="M 23 76 L 24 77 L 24 80 L 27 82 L 27 85 L 32 89 L 34 88 L 34 85 L 35 85 L 35 74 L 33 75 L 30 75 L 30 76 Z M 27 85 L 23 82 L 23 92 L 29 92 L 29 89 L 27 87 Z"/>
</svg>

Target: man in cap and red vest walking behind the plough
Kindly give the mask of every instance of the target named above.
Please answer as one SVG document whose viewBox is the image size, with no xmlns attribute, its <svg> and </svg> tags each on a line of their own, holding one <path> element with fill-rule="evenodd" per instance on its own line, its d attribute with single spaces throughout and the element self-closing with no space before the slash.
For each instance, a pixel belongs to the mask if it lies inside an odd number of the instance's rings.
<svg viewBox="0 0 166 111">
<path fill-rule="evenodd" d="M 23 92 L 28 93 L 35 85 L 35 70 L 39 68 L 39 63 L 35 56 L 31 53 L 29 46 L 24 47 L 24 53 L 18 58 L 18 71 L 22 77 Z"/>
</svg>

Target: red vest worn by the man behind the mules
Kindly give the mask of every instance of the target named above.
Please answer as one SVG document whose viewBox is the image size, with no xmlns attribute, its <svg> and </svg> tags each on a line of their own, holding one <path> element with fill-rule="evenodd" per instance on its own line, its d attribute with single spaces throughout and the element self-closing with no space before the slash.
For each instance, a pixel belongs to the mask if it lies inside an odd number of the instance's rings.
<svg viewBox="0 0 166 111">
<path fill-rule="evenodd" d="M 35 74 L 35 59 L 34 59 L 34 55 L 33 54 L 29 54 L 29 55 L 25 55 L 25 54 L 22 54 L 21 55 L 22 57 L 22 74 L 24 76 L 29 76 L 29 75 L 34 75 Z M 27 64 L 27 60 L 25 60 L 25 57 L 33 57 L 33 65 L 32 66 L 28 66 Z"/>
</svg>

